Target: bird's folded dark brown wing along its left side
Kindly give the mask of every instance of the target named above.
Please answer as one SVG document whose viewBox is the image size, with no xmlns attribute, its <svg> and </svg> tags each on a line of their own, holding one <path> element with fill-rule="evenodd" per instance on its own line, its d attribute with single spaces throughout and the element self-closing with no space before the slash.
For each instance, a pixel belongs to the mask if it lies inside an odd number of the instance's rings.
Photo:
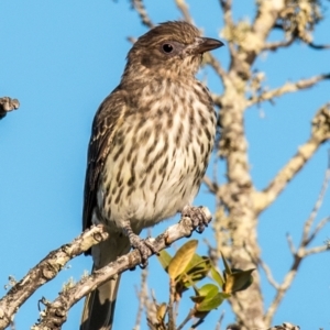
<svg viewBox="0 0 330 330">
<path fill-rule="evenodd" d="M 97 204 L 98 180 L 111 151 L 113 135 L 121 122 L 125 103 L 124 94 L 118 87 L 105 99 L 95 116 L 88 146 L 82 230 L 91 226 L 92 210 Z"/>
</svg>

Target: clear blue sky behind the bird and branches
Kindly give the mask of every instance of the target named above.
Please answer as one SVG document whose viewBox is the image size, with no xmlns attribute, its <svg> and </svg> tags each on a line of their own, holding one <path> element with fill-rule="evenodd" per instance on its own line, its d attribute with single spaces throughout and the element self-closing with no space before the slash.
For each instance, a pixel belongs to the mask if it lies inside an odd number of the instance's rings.
<svg viewBox="0 0 330 330">
<path fill-rule="evenodd" d="M 238 3 L 239 1 L 237 1 Z M 235 18 L 248 18 L 254 1 L 235 4 Z M 154 22 L 179 19 L 172 1 L 146 1 Z M 222 28 L 218 1 L 190 1 L 197 25 L 210 37 L 219 37 Z M 41 1 L 2 0 L 0 95 L 19 98 L 21 107 L 0 121 L 0 296 L 8 276 L 20 279 L 51 250 L 80 233 L 86 151 L 96 109 L 118 85 L 130 48 L 128 36 L 146 32 L 129 1 Z M 320 24 L 315 40 L 329 43 L 330 18 Z M 279 35 L 272 35 L 273 38 Z M 228 50 L 213 53 L 223 65 Z M 292 50 L 268 54 L 255 68 L 267 73 L 266 84 L 277 87 L 284 81 L 329 72 L 329 51 L 312 52 L 301 44 Z M 205 77 L 205 73 L 201 77 Z M 207 72 L 210 89 L 221 91 L 219 79 Z M 316 110 L 330 99 L 329 81 L 311 90 L 287 95 L 275 106 L 246 111 L 246 134 L 251 173 L 262 189 L 309 136 Z M 264 118 L 261 117 L 264 112 Z M 288 270 L 289 255 L 285 234 L 297 243 L 301 223 L 318 197 L 327 167 L 326 143 L 311 162 L 293 180 L 278 200 L 261 216 L 258 241 L 262 255 L 280 282 Z M 222 175 L 222 176 L 221 176 Z M 223 173 L 220 182 L 224 182 Z M 211 195 L 201 188 L 196 205 L 215 209 Z M 330 215 L 327 195 L 318 219 Z M 160 233 L 168 222 L 153 229 Z M 195 235 L 196 237 L 196 235 Z M 208 230 L 205 237 L 212 240 Z M 315 242 L 330 237 L 327 227 Z M 198 237 L 201 239 L 201 237 Z M 201 244 L 200 244 L 201 245 Z M 205 251 L 201 249 L 201 252 Z M 37 300 L 53 300 L 70 276 L 79 279 L 90 270 L 91 260 L 80 256 L 69 263 L 53 282 L 36 292 L 19 310 L 16 329 L 28 329 L 38 318 Z M 117 329 L 131 329 L 136 315 L 134 285 L 140 271 L 124 274 L 116 317 Z M 160 300 L 166 300 L 166 283 L 160 265 L 150 263 L 150 287 Z M 265 280 L 263 279 L 265 283 Z M 265 304 L 274 292 L 264 286 Z M 129 302 L 128 302 L 129 301 Z M 276 314 L 274 323 L 298 323 L 301 329 L 330 329 L 329 254 L 309 257 Z M 224 324 L 232 322 L 224 305 Z M 77 304 L 63 329 L 77 329 L 81 304 Z M 130 315 L 130 317 L 128 317 Z M 131 317 L 132 316 L 132 317 Z M 219 318 L 215 312 L 201 329 L 212 329 Z"/>
</svg>

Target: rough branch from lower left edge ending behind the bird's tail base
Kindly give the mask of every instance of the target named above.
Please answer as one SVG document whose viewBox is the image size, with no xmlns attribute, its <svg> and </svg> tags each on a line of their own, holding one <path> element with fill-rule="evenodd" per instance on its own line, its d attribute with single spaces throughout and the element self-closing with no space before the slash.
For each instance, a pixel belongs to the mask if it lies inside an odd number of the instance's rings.
<svg viewBox="0 0 330 330">
<path fill-rule="evenodd" d="M 92 245 L 105 241 L 108 232 L 103 227 L 94 227 L 72 243 L 62 245 L 59 249 L 52 251 L 44 260 L 19 283 L 16 283 L 9 293 L 0 299 L 0 329 L 8 327 L 13 315 L 22 306 L 26 299 L 42 285 L 53 279 L 65 264 L 79 254 L 88 251 Z"/>
</svg>

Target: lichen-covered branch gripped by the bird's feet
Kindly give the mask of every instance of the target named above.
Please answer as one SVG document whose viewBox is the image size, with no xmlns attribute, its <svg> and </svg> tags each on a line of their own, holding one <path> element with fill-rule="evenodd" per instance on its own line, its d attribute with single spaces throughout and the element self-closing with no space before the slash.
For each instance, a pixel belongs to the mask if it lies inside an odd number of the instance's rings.
<svg viewBox="0 0 330 330">
<path fill-rule="evenodd" d="M 212 218 L 210 211 L 207 208 L 202 208 L 202 212 L 205 213 L 208 222 L 210 222 Z M 173 242 L 191 235 L 195 229 L 196 227 L 193 224 L 190 218 L 183 217 L 179 223 L 170 226 L 165 233 L 158 235 L 156 239 L 148 239 L 148 244 L 153 246 L 153 250 L 161 251 L 168 248 Z M 150 251 L 148 257 L 152 254 L 153 253 Z M 118 274 L 140 265 L 141 262 L 140 252 L 134 250 L 131 253 L 117 258 L 117 261 L 111 262 L 107 266 L 94 271 L 91 275 L 82 278 L 76 285 L 62 292 L 53 302 L 48 302 L 44 299 L 43 302 L 46 308 L 41 314 L 41 320 L 33 326 L 32 329 L 61 329 L 62 324 L 66 321 L 68 310 L 73 305 L 92 292 L 96 287 L 102 285 L 114 276 L 118 276 Z"/>
</svg>

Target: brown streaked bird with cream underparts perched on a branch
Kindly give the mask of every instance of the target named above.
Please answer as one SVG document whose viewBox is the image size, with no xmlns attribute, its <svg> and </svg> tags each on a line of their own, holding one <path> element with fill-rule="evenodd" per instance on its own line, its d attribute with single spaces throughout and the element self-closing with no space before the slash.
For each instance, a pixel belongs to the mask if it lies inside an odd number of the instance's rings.
<svg viewBox="0 0 330 330">
<path fill-rule="evenodd" d="M 206 52 L 223 46 L 184 21 L 140 36 L 128 53 L 119 86 L 94 118 L 88 146 L 82 227 L 102 224 L 109 239 L 92 246 L 94 270 L 147 249 L 144 228 L 182 212 L 199 221 L 193 201 L 215 143 L 217 113 L 195 76 Z M 80 330 L 112 329 L 120 276 L 91 292 Z"/>
</svg>

